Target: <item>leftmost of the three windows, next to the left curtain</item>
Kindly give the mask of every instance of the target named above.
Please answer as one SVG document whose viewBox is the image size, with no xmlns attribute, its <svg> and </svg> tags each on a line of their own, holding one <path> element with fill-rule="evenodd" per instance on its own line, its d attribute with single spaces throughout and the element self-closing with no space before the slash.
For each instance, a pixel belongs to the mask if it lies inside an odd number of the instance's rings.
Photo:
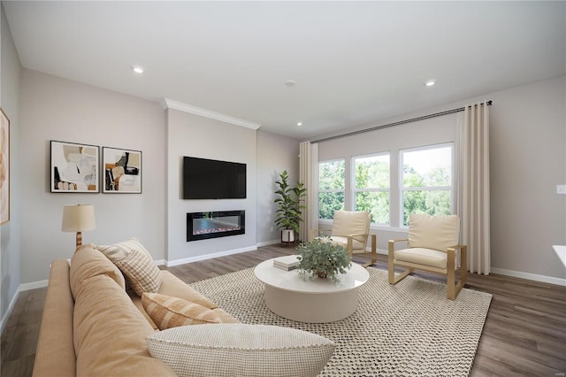
<svg viewBox="0 0 566 377">
<path fill-rule="evenodd" d="M 345 160 L 318 163 L 318 219 L 333 219 L 344 209 Z"/>
</svg>

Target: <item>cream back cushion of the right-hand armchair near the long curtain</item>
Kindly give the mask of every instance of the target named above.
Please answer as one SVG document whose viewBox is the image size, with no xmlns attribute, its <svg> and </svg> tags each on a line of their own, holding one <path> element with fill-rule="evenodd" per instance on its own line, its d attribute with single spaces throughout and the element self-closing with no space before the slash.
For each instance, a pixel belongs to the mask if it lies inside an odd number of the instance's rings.
<svg viewBox="0 0 566 377">
<path fill-rule="evenodd" d="M 411 214 L 409 217 L 409 248 L 446 252 L 447 248 L 458 244 L 459 238 L 460 220 L 456 215 Z"/>
</svg>

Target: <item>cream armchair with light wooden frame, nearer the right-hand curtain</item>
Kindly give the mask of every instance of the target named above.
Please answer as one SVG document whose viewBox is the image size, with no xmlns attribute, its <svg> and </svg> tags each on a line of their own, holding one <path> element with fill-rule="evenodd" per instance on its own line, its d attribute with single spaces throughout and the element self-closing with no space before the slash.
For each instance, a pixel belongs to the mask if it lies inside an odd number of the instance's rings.
<svg viewBox="0 0 566 377">
<path fill-rule="evenodd" d="M 415 269 L 442 273 L 447 277 L 447 298 L 455 300 L 467 279 L 467 247 L 458 244 L 460 219 L 455 215 L 429 216 L 411 214 L 409 217 L 409 239 L 390 240 L 388 250 L 389 283 L 402 281 Z M 395 250 L 396 242 L 407 242 L 407 249 Z M 456 264 L 460 251 L 461 265 Z M 395 275 L 395 266 L 407 267 Z M 460 271 L 460 280 L 455 283 L 455 272 Z"/>
</svg>

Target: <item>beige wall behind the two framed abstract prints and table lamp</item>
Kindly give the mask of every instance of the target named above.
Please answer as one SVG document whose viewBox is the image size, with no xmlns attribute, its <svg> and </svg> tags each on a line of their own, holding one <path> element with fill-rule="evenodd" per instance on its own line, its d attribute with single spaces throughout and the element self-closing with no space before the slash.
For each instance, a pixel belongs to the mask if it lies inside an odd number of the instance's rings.
<svg viewBox="0 0 566 377">
<path fill-rule="evenodd" d="M 142 150 L 142 194 L 50 193 L 50 140 Z M 164 259 L 164 110 L 157 103 L 27 69 L 21 77 L 21 282 L 47 279 L 50 262 L 70 258 L 61 232 L 64 204 L 94 204 L 96 230 L 83 242 L 138 237 Z M 102 152 L 102 150 L 101 150 Z"/>
</svg>

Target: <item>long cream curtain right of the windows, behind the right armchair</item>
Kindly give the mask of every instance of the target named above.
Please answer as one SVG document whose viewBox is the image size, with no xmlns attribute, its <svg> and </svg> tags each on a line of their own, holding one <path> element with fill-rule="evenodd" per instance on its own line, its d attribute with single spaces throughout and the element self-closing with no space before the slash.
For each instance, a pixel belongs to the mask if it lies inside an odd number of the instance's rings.
<svg viewBox="0 0 566 377">
<path fill-rule="evenodd" d="M 457 125 L 457 212 L 470 273 L 490 273 L 489 106 L 465 106 Z"/>
</svg>

